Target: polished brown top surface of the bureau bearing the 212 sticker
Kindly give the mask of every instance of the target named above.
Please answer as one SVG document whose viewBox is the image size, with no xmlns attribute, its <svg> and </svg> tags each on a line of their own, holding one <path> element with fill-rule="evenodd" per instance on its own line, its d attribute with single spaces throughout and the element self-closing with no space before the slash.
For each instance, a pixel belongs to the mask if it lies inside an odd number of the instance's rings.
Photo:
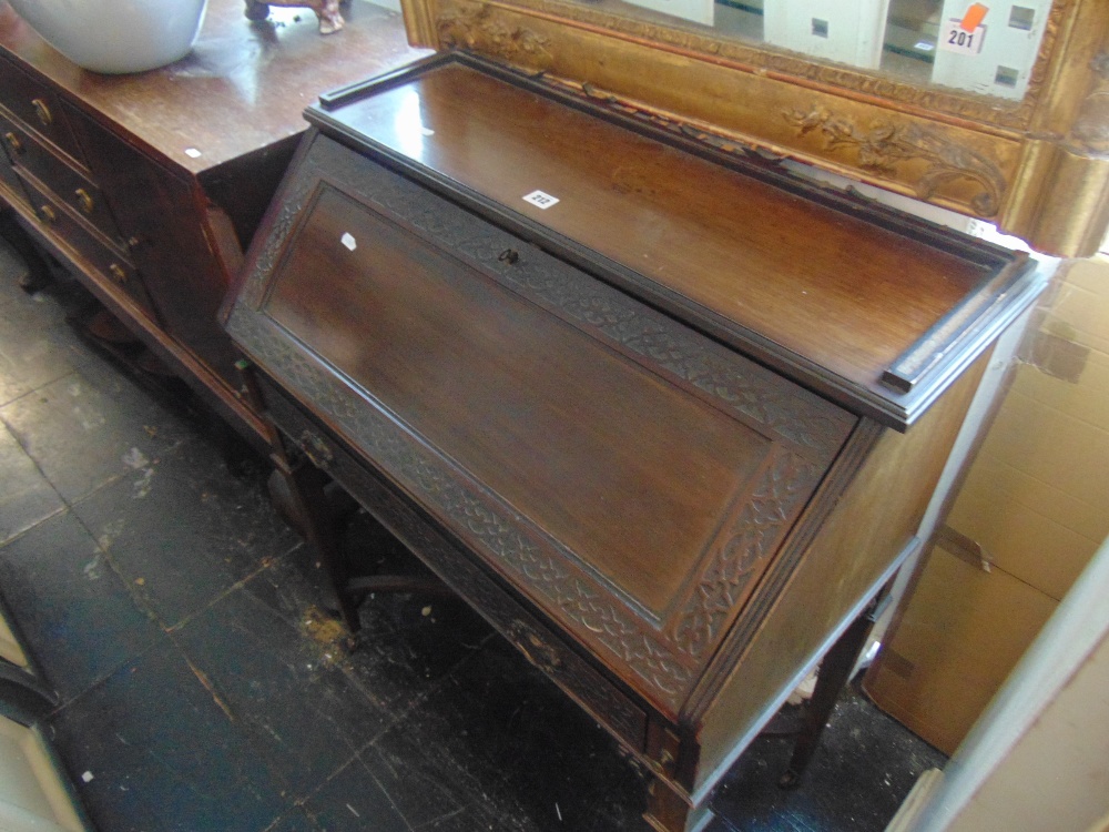
<svg viewBox="0 0 1109 832">
<path fill-rule="evenodd" d="M 445 65 L 345 105 L 372 141 L 871 389 L 987 271 L 892 229 Z M 523 196 L 556 196 L 548 209 Z"/>
</svg>

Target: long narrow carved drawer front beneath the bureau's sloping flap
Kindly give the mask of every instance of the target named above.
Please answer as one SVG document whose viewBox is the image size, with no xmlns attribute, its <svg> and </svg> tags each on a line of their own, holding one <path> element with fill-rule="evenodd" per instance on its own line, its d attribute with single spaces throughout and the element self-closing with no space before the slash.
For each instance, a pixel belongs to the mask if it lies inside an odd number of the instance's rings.
<svg viewBox="0 0 1109 832">
<path fill-rule="evenodd" d="M 608 679 L 566 647 L 550 626 L 513 599 L 449 538 L 430 527 L 340 443 L 318 427 L 267 379 L 262 379 L 266 410 L 277 427 L 326 470 L 366 510 L 426 562 L 451 589 L 480 612 L 537 668 L 602 722 L 633 751 L 644 750 L 647 717 Z"/>
</svg>

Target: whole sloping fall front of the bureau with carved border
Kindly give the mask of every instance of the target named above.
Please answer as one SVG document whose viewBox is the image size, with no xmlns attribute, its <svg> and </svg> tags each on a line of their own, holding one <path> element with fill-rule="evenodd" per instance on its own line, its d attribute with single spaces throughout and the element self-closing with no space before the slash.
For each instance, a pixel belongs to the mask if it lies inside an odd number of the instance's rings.
<svg viewBox="0 0 1109 832">
<path fill-rule="evenodd" d="M 854 418 L 326 139 L 230 329 L 668 719 Z"/>
</svg>

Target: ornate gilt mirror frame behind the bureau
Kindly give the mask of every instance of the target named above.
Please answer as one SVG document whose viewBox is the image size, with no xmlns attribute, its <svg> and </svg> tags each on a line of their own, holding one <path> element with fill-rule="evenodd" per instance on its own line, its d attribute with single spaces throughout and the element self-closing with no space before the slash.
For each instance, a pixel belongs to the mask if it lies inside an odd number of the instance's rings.
<svg viewBox="0 0 1109 832">
<path fill-rule="evenodd" d="M 1022 99 L 918 85 L 566 0 L 401 0 L 409 41 L 542 72 L 737 143 L 1095 253 L 1109 226 L 1109 2 L 1055 0 Z M 740 151 L 742 152 L 742 151 Z"/>
</svg>

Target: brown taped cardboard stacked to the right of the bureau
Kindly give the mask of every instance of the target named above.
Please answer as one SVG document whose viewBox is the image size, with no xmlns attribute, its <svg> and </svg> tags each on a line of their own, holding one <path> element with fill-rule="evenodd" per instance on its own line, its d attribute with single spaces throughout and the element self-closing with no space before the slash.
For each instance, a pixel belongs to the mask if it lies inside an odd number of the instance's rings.
<svg viewBox="0 0 1109 832">
<path fill-rule="evenodd" d="M 1020 361 L 864 681 L 946 753 L 1109 537 L 1109 261 L 1058 280 Z"/>
</svg>

